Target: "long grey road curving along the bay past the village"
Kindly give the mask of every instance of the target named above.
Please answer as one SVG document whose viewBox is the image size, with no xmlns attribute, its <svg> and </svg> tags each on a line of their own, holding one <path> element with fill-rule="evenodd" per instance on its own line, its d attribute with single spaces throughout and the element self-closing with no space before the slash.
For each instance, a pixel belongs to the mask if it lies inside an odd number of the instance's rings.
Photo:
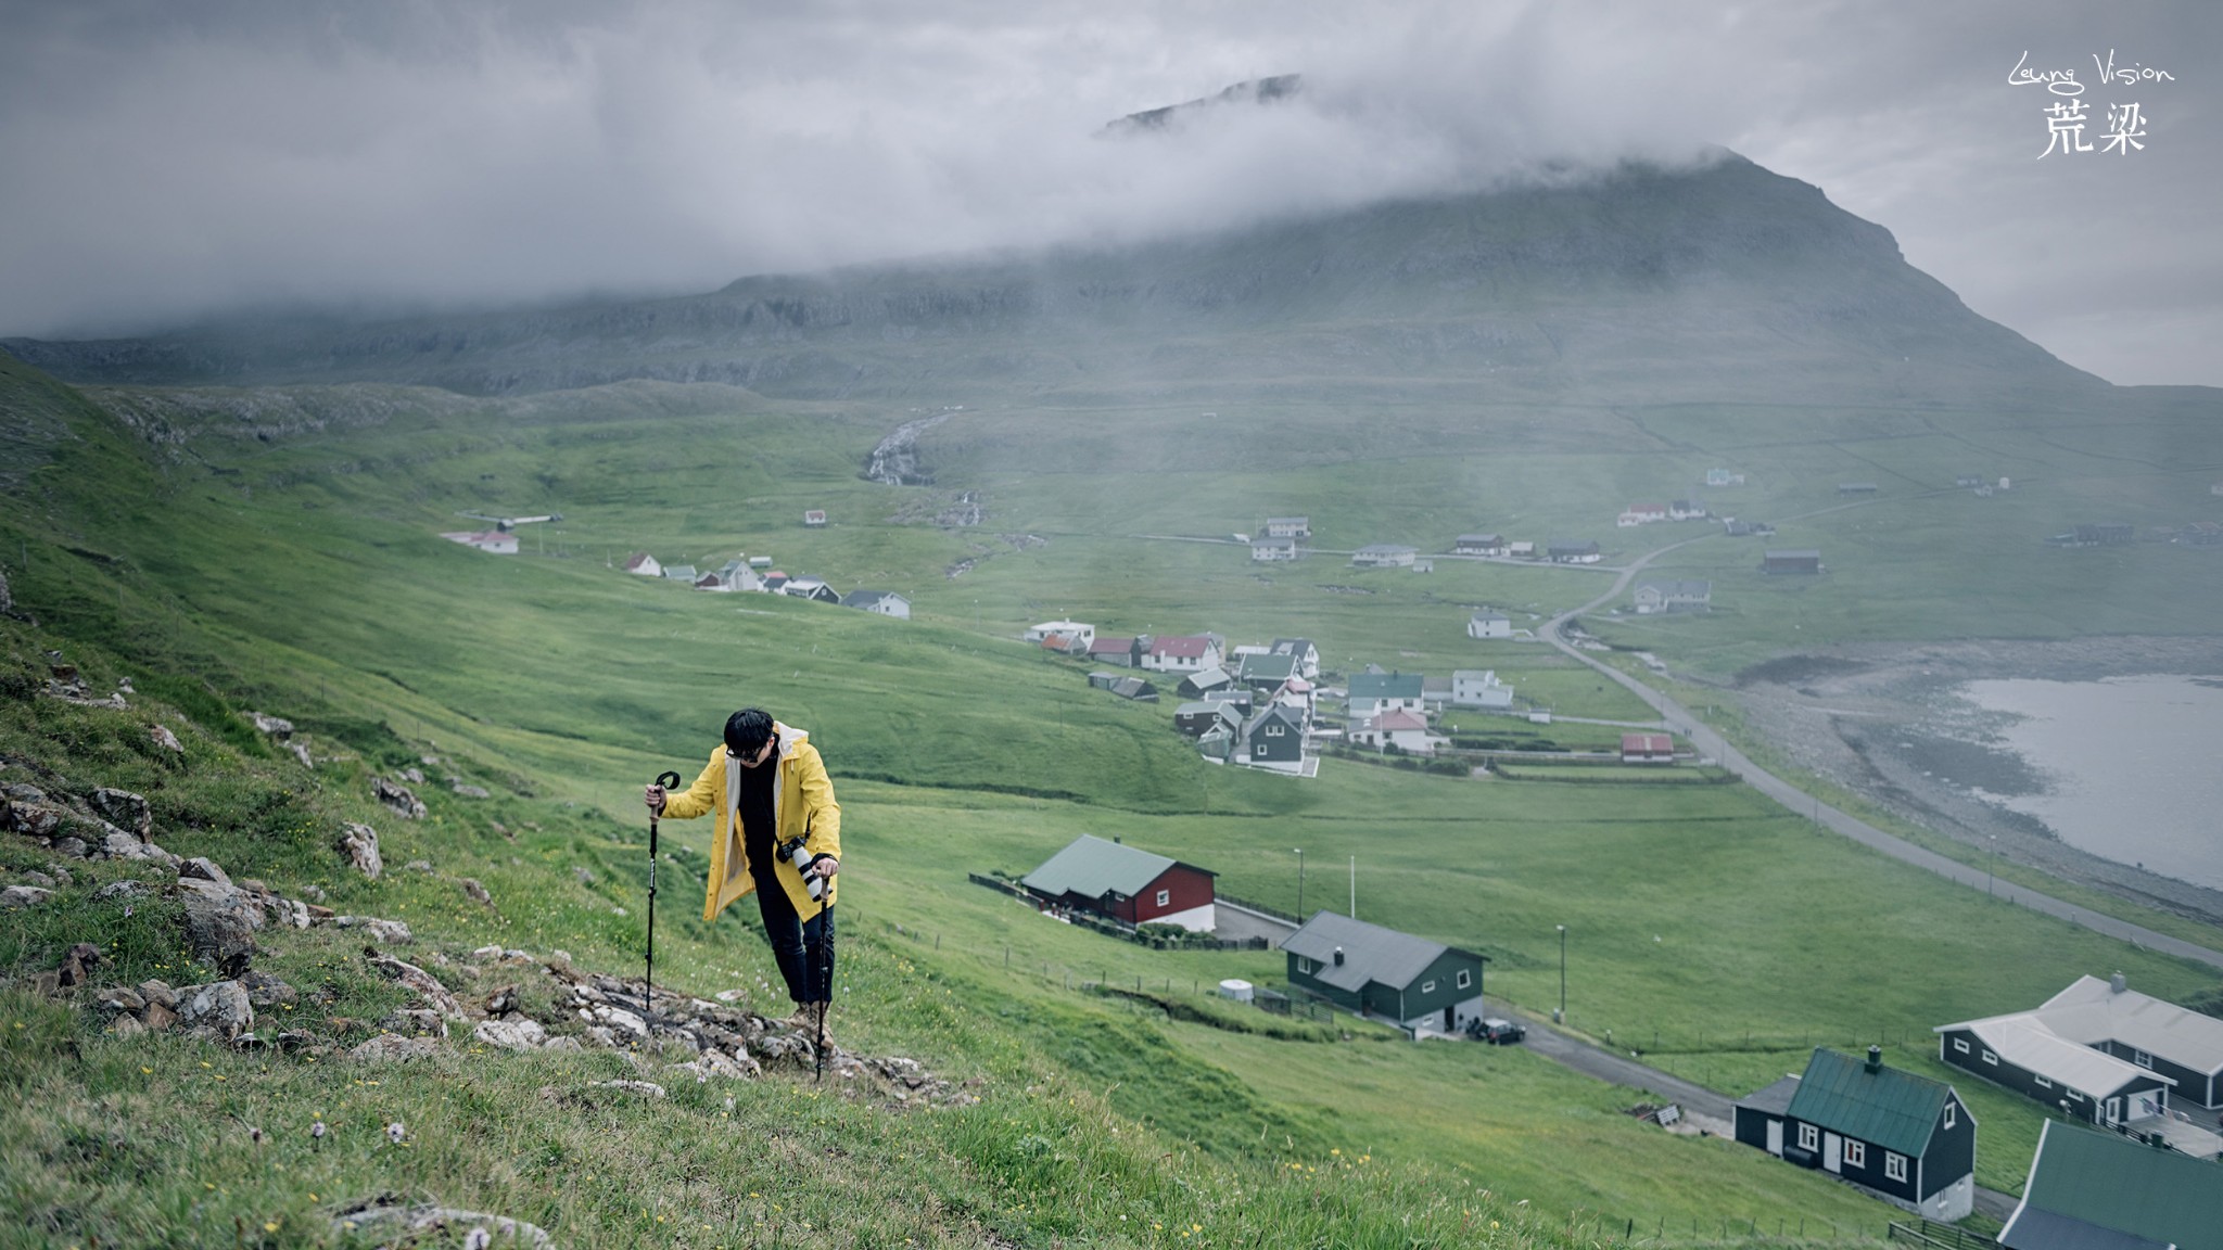
<svg viewBox="0 0 2223 1250">
<path fill-rule="evenodd" d="M 2087 927 L 2092 932 L 2107 934 L 2112 939 L 2121 939 L 2121 941 L 2127 941 L 2132 945 L 2141 945 L 2145 950 L 2159 950 L 2163 954 L 2174 954 L 2176 959 L 2190 959 L 2194 963 L 2205 963 L 2207 968 L 2223 970 L 2223 952 L 2210 950 L 2205 945 L 2190 943 L 2190 941 L 2179 939 L 2179 936 L 2154 932 L 2154 930 L 2150 930 L 2145 925 L 2134 925 L 2130 921 L 2110 916 L 2105 912 L 2094 912 L 2090 907 L 2079 907 L 2076 903 L 2067 903 L 2063 899 L 2054 899 L 2052 894 L 2041 894 L 2038 890 L 2030 890 L 2027 885 L 2014 885 L 2014 883 L 2007 883 L 2007 881 L 1998 881 L 1998 879 L 1994 879 L 1990 872 L 1985 872 L 1981 867 L 1970 867 L 1970 865 L 1965 865 L 1961 861 L 1945 859 L 1943 854 L 1936 854 L 1934 850 L 1918 847 L 1918 845 L 1914 845 L 1914 843 L 1910 843 L 1910 841 L 1905 841 L 1901 836 L 1887 834 L 1887 832 L 1870 825 L 1867 821 L 1854 819 L 1854 816 L 1850 816 L 1845 812 L 1838 812 L 1836 807 L 1830 807 L 1827 803 L 1814 798 L 1812 794 L 1798 790 L 1796 785 L 1790 785 L 1787 781 L 1783 781 L 1783 778 L 1770 774 L 1767 770 L 1763 770 L 1761 765 L 1752 763 L 1752 758 L 1747 758 L 1743 752 L 1738 752 L 1734 745 L 1729 745 L 1727 738 L 1723 738 L 1721 734 L 1716 734 L 1714 730 L 1709 730 L 1705 723 L 1701 723 L 1696 716 L 1692 716 L 1689 710 L 1685 710 L 1681 703 L 1667 698 L 1665 694 L 1652 690 L 1649 685 L 1636 681 L 1634 676 L 1616 669 L 1614 665 L 1607 665 L 1607 663 L 1589 658 L 1587 654 L 1583 654 L 1581 647 L 1567 643 L 1567 638 L 1561 636 L 1561 629 L 1569 621 L 1574 621 L 1576 616 L 1581 616 L 1585 612 L 1594 612 L 1596 607 L 1605 605 L 1607 601 L 1618 598 L 1621 592 L 1627 589 L 1629 581 L 1634 581 L 1636 574 L 1645 569 L 1645 565 L 1649 565 L 1652 560 L 1665 556 L 1667 552 L 1674 552 L 1678 547 L 1687 547 L 1692 543 L 1703 543 L 1705 538 L 1709 538 L 1709 534 L 1707 536 L 1698 536 L 1698 538 L 1685 538 L 1683 543 L 1674 543 L 1674 545 L 1661 547 L 1658 552 L 1652 552 L 1649 556 L 1643 556 L 1641 560 L 1627 565 L 1621 572 L 1621 576 L 1614 578 L 1614 587 L 1612 589 L 1607 589 L 1605 594 L 1601 594 L 1598 598 L 1592 598 L 1589 603 L 1585 603 L 1581 607 L 1572 607 L 1567 612 L 1561 612 L 1558 616 L 1554 616 L 1552 621 L 1547 621 L 1543 625 L 1543 629 L 1538 632 L 1538 636 L 1543 641 L 1552 643 L 1554 647 L 1558 647 L 1561 652 L 1565 652 L 1567 656 L 1572 656 L 1572 658 L 1589 665 L 1601 676 L 1607 676 L 1614 683 L 1623 685 L 1636 698 L 1643 698 L 1654 712 L 1661 714 L 1661 721 L 1665 721 L 1669 730 L 1685 734 L 1692 741 L 1692 745 L 1698 747 L 1698 754 L 1714 756 L 1716 761 L 1721 761 L 1723 767 L 1727 767 L 1729 772 L 1734 772 L 1738 778 L 1743 778 L 1747 785 L 1752 785 L 1761 794 L 1765 794 L 1765 796 L 1774 798 L 1776 803 L 1790 807 L 1798 816 L 1812 819 L 1816 825 L 1821 825 L 1821 827 L 1825 827 L 1825 830 L 1830 830 L 1834 834 L 1847 836 L 1847 839 L 1852 839 L 1852 841 L 1856 841 L 1856 843 L 1861 843 L 1865 847 L 1874 847 L 1874 850 L 1878 850 L 1878 852 L 1883 852 L 1883 854 L 1887 854 L 1887 856 L 1892 856 L 1896 861 L 1912 863 L 1914 867 L 1923 867 L 1923 870 L 1936 872 L 1938 876 L 1945 876 L 1950 881 L 1958 881 L 1961 885 L 1967 885 L 1970 890 L 1983 890 L 1983 892 L 1992 894 L 1994 899 L 2005 899 L 2010 903 L 2018 903 L 2023 907 L 2030 907 L 2032 912 L 2043 912 L 2047 916 L 2063 919 L 2063 921 L 2067 921 L 2072 925 L 2083 925 L 2083 927 Z"/>
</svg>

